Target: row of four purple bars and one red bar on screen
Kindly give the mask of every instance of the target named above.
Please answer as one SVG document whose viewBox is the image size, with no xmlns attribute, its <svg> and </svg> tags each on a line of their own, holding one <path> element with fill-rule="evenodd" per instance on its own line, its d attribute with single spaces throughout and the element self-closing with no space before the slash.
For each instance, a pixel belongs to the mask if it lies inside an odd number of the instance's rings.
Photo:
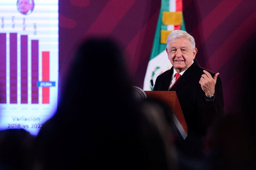
<svg viewBox="0 0 256 170">
<path fill-rule="evenodd" d="M 0 49 L 6 49 L 6 33 L 0 33 Z M 21 103 L 28 103 L 28 35 L 21 35 L 21 46 L 20 46 L 20 56 L 21 56 Z M 39 41 L 31 40 L 31 103 L 38 104 L 38 65 L 39 65 Z M 1 50 L 2 51 L 2 50 Z M 50 52 L 42 51 L 42 81 L 50 81 Z M 0 53 L 1 57 L 1 101 L 0 103 L 7 103 L 6 98 L 6 52 L 3 50 Z M 10 33 L 10 103 L 17 104 L 17 33 Z M 50 103 L 50 89 L 49 87 L 42 87 L 43 94 L 43 104 Z"/>
</svg>

